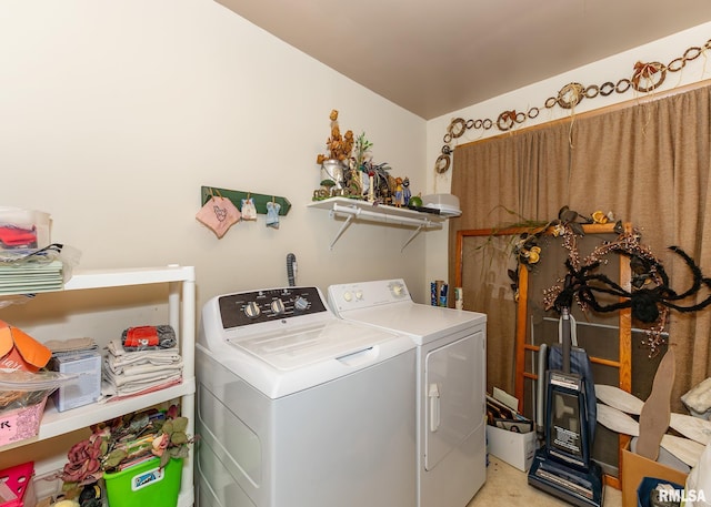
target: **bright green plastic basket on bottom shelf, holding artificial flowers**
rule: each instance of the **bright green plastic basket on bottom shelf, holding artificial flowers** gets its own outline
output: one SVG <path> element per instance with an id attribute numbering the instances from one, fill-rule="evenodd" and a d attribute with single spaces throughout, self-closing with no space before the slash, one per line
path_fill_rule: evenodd
<path id="1" fill-rule="evenodd" d="M 116 474 L 104 474 L 109 507 L 176 507 L 181 475 L 182 459 L 171 459 L 161 469 L 159 458 Z"/>

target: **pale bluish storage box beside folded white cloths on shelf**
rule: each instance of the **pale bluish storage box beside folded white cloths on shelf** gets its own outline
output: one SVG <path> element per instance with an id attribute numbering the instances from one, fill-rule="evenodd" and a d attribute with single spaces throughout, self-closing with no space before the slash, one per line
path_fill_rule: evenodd
<path id="1" fill-rule="evenodd" d="M 89 405 L 101 396 L 101 354 L 98 351 L 58 354 L 52 356 L 48 367 L 79 375 L 52 394 L 59 412 Z"/>

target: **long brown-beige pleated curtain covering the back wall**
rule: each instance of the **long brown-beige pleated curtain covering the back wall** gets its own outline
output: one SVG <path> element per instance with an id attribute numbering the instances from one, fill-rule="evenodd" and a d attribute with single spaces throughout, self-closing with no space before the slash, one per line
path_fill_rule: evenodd
<path id="1" fill-rule="evenodd" d="M 631 222 L 641 231 L 642 242 L 663 261 L 678 293 L 690 286 L 691 274 L 669 246 L 680 246 L 711 276 L 710 124 L 711 87 L 704 87 L 458 146 L 452 193 L 459 196 L 463 214 L 450 220 L 450 283 L 458 255 L 457 231 L 501 227 L 521 220 L 550 221 L 563 205 L 585 215 L 612 211 L 617 219 Z M 465 307 L 489 315 L 489 387 L 512 392 L 509 322 L 515 318 L 515 304 L 511 294 L 499 301 L 492 301 L 490 294 L 485 298 L 474 295 L 485 291 L 494 277 L 498 285 L 508 286 L 507 270 L 500 262 L 491 263 L 491 270 L 482 274 L 467 270 L 468 262 L 465 256 L 464 294 L 471 294 Z M 508 266 L 515 266 L 512 258 Z M 672 311 L 670 334 L 677 357 L 673 397 L 678 400 L 711 376 L 711 307 L 694 313 Z"/>

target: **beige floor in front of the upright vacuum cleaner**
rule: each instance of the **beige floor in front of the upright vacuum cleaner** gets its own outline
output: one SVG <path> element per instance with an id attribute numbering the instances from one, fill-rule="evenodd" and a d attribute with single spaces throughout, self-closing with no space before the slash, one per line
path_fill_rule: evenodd
<path id="1" fill-rule="evenodd" d="M 528 476 L 511 465 L 489 455 L 487 481 L 468 507 L 557 507 L 569 504 L 528 485 Z M 604 507 L 621 507 L 622 491 L 605 486 Z"/>

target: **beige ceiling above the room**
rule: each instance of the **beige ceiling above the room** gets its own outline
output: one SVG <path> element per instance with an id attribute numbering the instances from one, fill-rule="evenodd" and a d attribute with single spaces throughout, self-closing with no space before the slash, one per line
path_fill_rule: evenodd
<path id="1" fill-rule="evenodd" d="M 709 0 L 217 1 L 425 120 L 711 20 Z"/>

